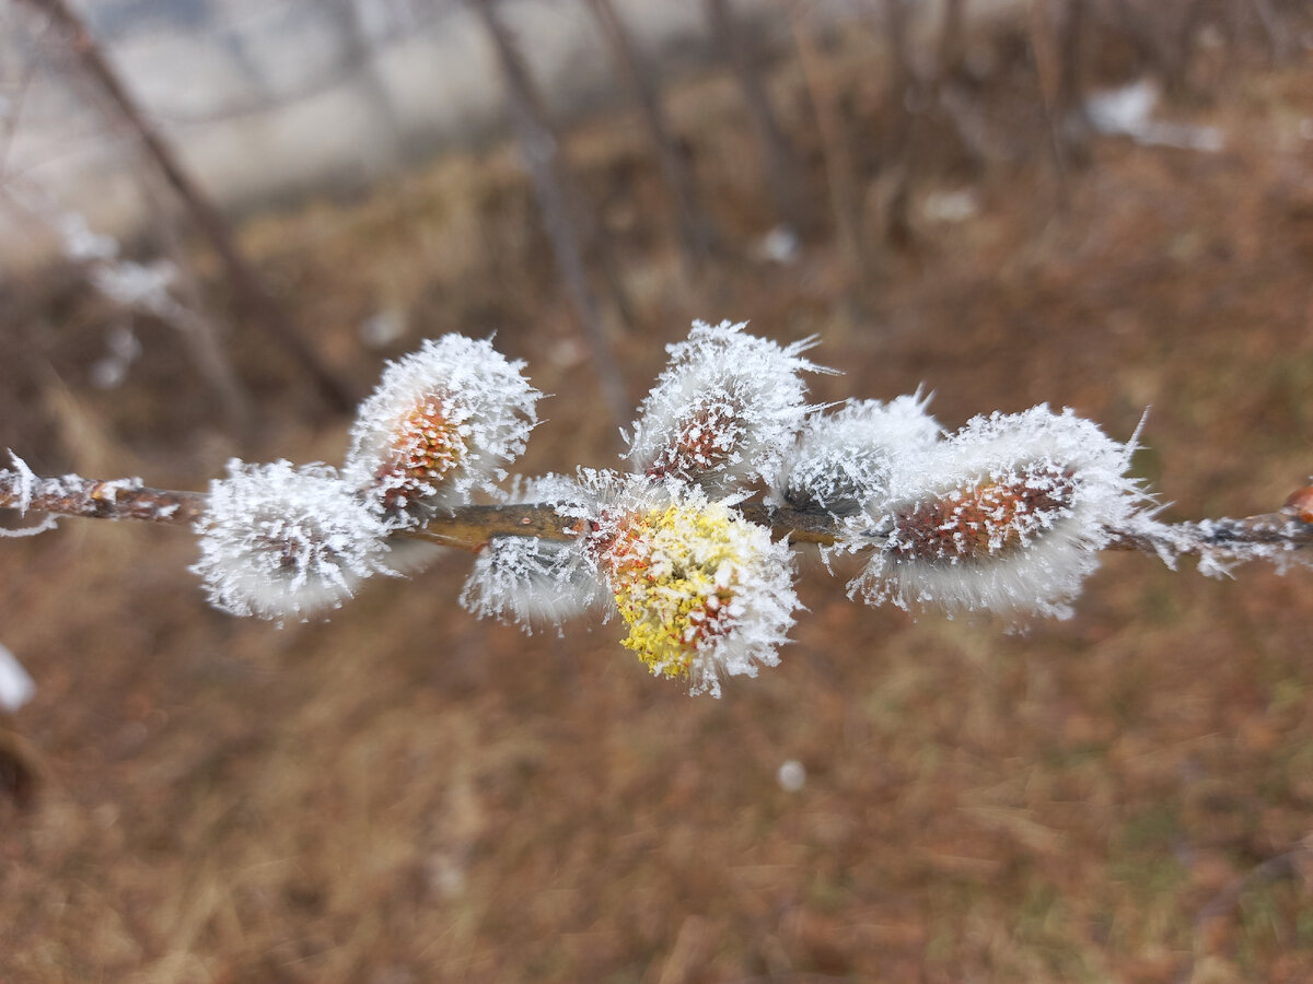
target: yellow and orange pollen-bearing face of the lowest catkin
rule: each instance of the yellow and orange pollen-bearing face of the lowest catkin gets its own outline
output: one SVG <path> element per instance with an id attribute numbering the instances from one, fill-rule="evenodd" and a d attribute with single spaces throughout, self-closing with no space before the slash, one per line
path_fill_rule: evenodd
<path id="1" fill-rule="evenodd" d="M 625 520 L 607 550 L 611 588 L 629 626 L 625 648 L 653 674 L 688 678 L 699 651 L 733 627 L 729 606 L 746 558 L 722 505 L 671 505 Z"/>

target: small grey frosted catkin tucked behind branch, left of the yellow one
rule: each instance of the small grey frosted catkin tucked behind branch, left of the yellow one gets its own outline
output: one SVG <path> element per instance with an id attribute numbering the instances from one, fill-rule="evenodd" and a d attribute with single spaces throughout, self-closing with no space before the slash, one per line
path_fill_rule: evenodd
<path id="1" fill-rule="evenodd" d="M 511 501 L 553 505 L 562 516 L 562 527 L 575 526 L 580 534 L 590 523 L 569 517 L 596 513 L 592 495 L 561 475 L 516 483 Z M 583 535 L 574 541 L 496 537 L 474 559 L 461 592 L 467 611 L 515 622 L 527 632 L 545 625 L 559 628 L 607 598 L 593 551 Z"/>

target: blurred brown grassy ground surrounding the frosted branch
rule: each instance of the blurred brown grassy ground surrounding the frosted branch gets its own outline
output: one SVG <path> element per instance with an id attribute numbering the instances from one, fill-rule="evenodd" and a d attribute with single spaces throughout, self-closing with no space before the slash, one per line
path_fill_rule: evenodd
<path id="1" fill-rule="evenodd" d="M 850 122 L 878 135 L 867 42 L 844 43 Z M 821 336 L 846 371 L 822 398 L 924 383 L 953 426 L 1048 400 L 1125 438 L 1152 404 L 1137 468 L 1170 514 L 1279 505 L 1313 467 L 1313 87 L 1306 52 L 1245 63 L 1205 59 L 1208 98 L 1166 110 L 1222 127 L 1224 152 L 1099 139 L 1057 211 L 1004 56 L 981 98 L 1025 152 L 968 167 L 931 144 L 915 203 L 972 188 L 979 215 L 918 219 L 856 290 L 823 231 L 796 265 L 751 258 L 771 219 L 726 79 L 674 104 L 730 244 L 696 285 L 637 125 L 586 127 L 571 151 L 641 320 L 618 340 L 633 395 L 692 318 L 751 319 Z M 794 67 L 776 81 L 798 110 Z M 362 388 L 381 357 L 356 325 L 381 306 L 411 318 L 387 354 L 495 328 L 558 394 L 525 470 L 605 464 L 534 228 L 495 151 L 246 234 Z M 231 453 L 340 458 L 347 422 L 240 333 L 244 447 L 164 327 L 140 327 L 123 388 L 93 390 L 112 312 L 54 279 L 4 297 L 0 447 L 186 487 Z M 1074 619 L 1007 635 L 851 604 L 809 562 L 784 665 L 712 701 L 650 678 L 614 625 L 475 622 L 461 556 L 280 630 L 205 607 L 193 552 L 76 521 L 0 544 L 0 642 L 39 685 L 0 720 L 4 981 L 1313 979 L 1308 572 L 1109 556 Z"/>

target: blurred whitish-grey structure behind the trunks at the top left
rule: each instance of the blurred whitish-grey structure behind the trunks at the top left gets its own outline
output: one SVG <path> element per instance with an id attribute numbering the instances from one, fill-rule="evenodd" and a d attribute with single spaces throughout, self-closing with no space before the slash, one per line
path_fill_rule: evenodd
<path id="1" fill-rule="evenodd" d="M 139 105 L 226 207 L 360 188 L 440 147 L 504 127 L 496 59 L 465 0 L 72 0 Z M 718 55 L 704 0 L 613 0 L 671 76 Z M 941 0 L 916 0 L 931 28 Z M 1019 0 L 972 0 L 974 20 Z M 582 0 L 502 0 L 554 115 L 614 100 L 611 59 Z M 739 13 L 789 43 L 784 8 Z M 857 0 L 818 0 L 848 20 Z M 39 184 L 122 239 L 152 207 L 133 142 L 95 109 L 56 38 L 25 4 L 0 5 L 0 181 Z M 158 206 L 156 206 L 158 207 Z M 0 207 L 0 260 L 53 255 Z M 41 258 L 41 256 L 34 257 Z"/>

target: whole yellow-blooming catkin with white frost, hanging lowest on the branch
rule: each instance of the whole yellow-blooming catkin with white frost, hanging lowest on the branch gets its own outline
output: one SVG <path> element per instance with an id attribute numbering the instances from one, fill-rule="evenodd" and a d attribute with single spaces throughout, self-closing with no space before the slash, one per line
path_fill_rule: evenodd
<path id="1" fill-rule="evenodd" d="M 608 510 L 591 542 L 624 646 L 654 674 L 720 697 L 722 676 L 775 666 L 798 606 L 793 555 L 771 533 L 696 488 L 666 483 Z"/>

